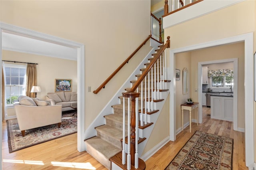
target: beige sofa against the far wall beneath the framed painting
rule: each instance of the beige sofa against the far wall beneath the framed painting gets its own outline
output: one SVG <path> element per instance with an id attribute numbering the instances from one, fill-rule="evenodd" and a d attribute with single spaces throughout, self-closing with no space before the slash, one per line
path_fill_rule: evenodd
<path id="1" fill-rule="evenodd" d="M 45 99 L 49 100 L 51 102 L 51 105 L 62 105 L 62 111 L 74 110 L 71 107 L 77 107 L 76 91 L 61 91 L 55 93 L 47 93 Z"/>

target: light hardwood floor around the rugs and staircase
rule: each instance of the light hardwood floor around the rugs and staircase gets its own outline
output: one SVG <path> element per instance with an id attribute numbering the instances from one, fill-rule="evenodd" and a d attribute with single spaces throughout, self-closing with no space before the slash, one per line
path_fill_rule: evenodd
<path id="1" fill-rule="evenodd" d="M 168 142 L 146 161 L 146 170 L 163 170 L 196 130 L 234 138 L 233 169 L 248 170 L 244 162 L 244 133 L 232 130 L 232 122 L 210 119 L 209 108 L 203 108 L 203 113 L 204 123 L 192 123 L 191 133 L 186 127 L 175 142 Z M 3 170 L 106 170 L 90 154 L 76 150 L 77 134 L 9 153 L 6 122 L 2 124 Z"/>

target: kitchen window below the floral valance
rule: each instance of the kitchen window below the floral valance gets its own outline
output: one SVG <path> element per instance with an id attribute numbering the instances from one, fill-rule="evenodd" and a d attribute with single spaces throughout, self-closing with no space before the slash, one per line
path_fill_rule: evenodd
<path id="1" fill-rule="evenodd" d="M 234 79 L 233 76 L 217 76 L 217 77 L 210 77 L 210 84 L 212 87 L 233 87 Z"/>

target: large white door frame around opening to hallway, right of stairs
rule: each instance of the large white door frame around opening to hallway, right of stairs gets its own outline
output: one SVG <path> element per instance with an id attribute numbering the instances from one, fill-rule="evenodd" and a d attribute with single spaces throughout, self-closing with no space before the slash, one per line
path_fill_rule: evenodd
<path id="1" fill-rule="evenodd" d="M 253 32 L 215 40 L 211 42 L 170 49 L 170 140 L 176 140 L 176 108 L 175 108 L 175 53 L 191 51 L 216 45 L 224 45 L 228 43 L 244 42 L 244 93 L 245 93 L 245 162 L 246 166 L 254 164 L 254 91 L 253 88 Z"/>

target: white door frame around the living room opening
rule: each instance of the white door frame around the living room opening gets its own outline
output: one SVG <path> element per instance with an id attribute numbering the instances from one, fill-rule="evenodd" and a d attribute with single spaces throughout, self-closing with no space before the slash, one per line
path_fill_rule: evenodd
<path id="1" fill-rule="evenodd" d="M 26 28 L 21 28 L 18 26 L 13 26 L 10 24 L 5 24 L 0 22 L 0 60 L 2 61 L 2 32 L 7 31 L 14 34 L 22 34 L 29 38 L 34 38 L 37 40 L 42 40 L 50 43 L 56 43 L 59 45 L 64 45 L 67 47 L 72 47 L 77 49 L 77 95 L 78 95 L 78 112 L 77 112 L 77 150 L 82 152 L 85 150 L 85 143 L 84 143 L 84 120 L 85 120 L 85 47 L 84 44 L 73 42 L 70 40 L 65 40 L 62 38 L 58 38 L 55 36 L 51 36 L 48 34 L 43 34 L 40 32 L 35 32 L 32 30 L 28 30 Z M 2 67 L 2 62 L 0 62 L 0 67 Z M 2 69 L 0 69 L 0 76 L 2 77 Z M 2 88 L 0 89 L 0 95 L 2 96 Z M 0 98 L 0 102 L 2 103 L 2 97 Z M 2 115 L 2 109 L 0 111 L 0 115 Z M 1 120 L 1 127 L 2 127 L 2 116 Z M 2 131 L 0 132 L 0 147 L 2 147 Z M 2 160 L 2 152 L 0 154 L 0 158 Z M 2 164 L 0 169 L 2 168 Z"/>

